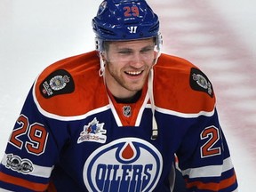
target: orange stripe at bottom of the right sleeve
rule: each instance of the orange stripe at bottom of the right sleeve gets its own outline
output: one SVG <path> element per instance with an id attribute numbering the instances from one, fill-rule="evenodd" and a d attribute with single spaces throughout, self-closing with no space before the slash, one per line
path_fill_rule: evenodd
<path id="1" fill-rule="evenodd" d="M 203 183 L 201 181 L 195 181 L 187 183 L 187 188 L 196 188 L 201 190 L 211 190 L 211 191 L 219 191 L 220 189 L 228 188 L 232 185 L 236 184 L 236 174 L 233 174 L 232 177 L 227 180 L 221 180 L 220 183 Z"/>

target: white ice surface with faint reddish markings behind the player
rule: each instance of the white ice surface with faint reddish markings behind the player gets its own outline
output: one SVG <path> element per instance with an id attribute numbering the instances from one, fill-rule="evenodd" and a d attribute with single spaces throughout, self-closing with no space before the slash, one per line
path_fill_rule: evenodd
<path id="1" fill-rule="evenodd" d="M 94 49 L 91 20 L 100 0 L 1 0 L 0 156 L 36 76 L 54 61 Z M 190 60 L 217 95 L 239 191 L 256 172 L 256 2 L 148 0 L 158 14 L 163 52 Z"/>

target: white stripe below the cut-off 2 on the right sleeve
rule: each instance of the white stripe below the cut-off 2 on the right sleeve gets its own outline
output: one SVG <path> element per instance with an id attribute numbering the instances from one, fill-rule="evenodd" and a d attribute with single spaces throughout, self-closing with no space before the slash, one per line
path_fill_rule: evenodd
<path id="1" fill-rule="evenodd" d="M 199 168 L 191 168 L 182 171 L 182 175 L 188 175 L 190 179 L 199 177 L 220 177 L 222 172 L 233 169 L 231 158 L 228 157 L 220 165 L 209 165 Z"/>

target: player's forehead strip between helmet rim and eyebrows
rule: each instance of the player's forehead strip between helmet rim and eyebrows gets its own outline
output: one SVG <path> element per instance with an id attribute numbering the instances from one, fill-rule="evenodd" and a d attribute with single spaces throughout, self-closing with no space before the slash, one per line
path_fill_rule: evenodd
<path id="1" fill-rule="evenodd" d="M 154 38 L 132 40 L 132 41 L 113 41 L 109 42 L 109 46 L 115 48 L 138 48 L 152 45 L 154 43 Z"/>

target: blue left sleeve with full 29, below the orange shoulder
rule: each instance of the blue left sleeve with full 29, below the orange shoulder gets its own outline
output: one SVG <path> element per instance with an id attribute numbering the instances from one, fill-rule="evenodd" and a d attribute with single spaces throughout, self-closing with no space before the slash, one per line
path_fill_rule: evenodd
<path id="1" fill-rule="evenodd" d="M 61 124 L 42 116 L 31 89 L 0 164 L 0 190 L 25 192 L 48 188 L 60 148 L 68 140 L 65 127 L 54 130 L 50 127 L 61 127 Z M 60 137 L 58 141 L 54 138 L 57 136 Z"/>

